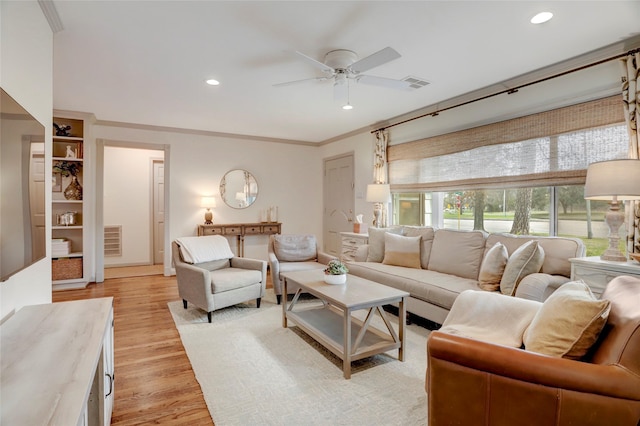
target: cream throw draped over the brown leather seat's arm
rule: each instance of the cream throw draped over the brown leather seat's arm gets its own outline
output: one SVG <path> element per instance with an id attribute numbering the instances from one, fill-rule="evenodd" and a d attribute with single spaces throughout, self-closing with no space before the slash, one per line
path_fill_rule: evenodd
<path id="1" fill-rule="evenodd" d="M 520 348 L 523 335 L 542 303 L 500 293 L 460 293 L 440 331 L 483 342 Z"/>

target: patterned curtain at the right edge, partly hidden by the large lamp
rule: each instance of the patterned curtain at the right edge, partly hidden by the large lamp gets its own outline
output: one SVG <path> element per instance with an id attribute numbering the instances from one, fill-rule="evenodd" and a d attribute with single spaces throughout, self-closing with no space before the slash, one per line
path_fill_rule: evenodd
<path id="1" fill-rule="evenodd" d="M 640 52 L 621 60 L 622 65 L 622 100 L 624 116 L 629 130 L 629 158 L 640 159 L 638 139 L 638 123 L 640 122 Z M 629 201 L 627 205 L 627 251 L 640 252 L 640 202 Z"/>

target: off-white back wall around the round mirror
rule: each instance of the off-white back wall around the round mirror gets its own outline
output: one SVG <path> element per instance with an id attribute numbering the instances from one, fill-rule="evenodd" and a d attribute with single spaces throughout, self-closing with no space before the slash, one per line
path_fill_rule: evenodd
<path id="1" fill-rule="evenodd" d="M 100 117 L 97 117 L 100 120 Z M 214 223 L 259 222 L 260 210 L 278 206 L 283 233 L 313 233 L 322 238 L 322 157 L 315 146 L 276 143 L 194 132 L 139 129 L 101 125 L 96 139 L 131 144 L 169 145 L 168 221 L 171 240 L 196 235 L 204 223 L 200 198 L 214 195 Z M 228 207 L 220 199 L 220 179 L 232 169 L 251 172 L 258 197 L 246 209 Z M 122 168 L 120 168 L 122 173 Z M 107 172 L 105 171 L 105 174 Z M 107 221 L 105 220 L 105 224 Z M 245 239 L 245 256 L 267 259 L 267 237 Z M 235 249 L 235 240 L 231 240 Z"/>

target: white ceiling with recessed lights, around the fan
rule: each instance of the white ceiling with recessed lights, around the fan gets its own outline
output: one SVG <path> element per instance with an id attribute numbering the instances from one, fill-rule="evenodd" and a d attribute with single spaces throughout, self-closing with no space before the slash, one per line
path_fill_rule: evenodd
<path id="1" fill-rule="evenodd" d="M 319 143 L 637 36 L 634 1 L 63 1 L 54 108 L 135 123 Z M 529 19 L 540 11 L 554 18 Z M 322 62 L 387 46 L 365 74 L 426 87 L 351 84 L 354 109 L 295 51 Z M 215 78 L 219 86 L 205 80 Z"/>

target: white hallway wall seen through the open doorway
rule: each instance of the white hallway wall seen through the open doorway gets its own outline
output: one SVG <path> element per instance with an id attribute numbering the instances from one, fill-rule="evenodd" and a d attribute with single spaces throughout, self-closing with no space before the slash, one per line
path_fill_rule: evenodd
<path id="1" fill-rule="evenodd" d="M 152 159 L 162 151 L 106 146 L 104 225 L 122 226 L 122 255 L 106 265 L 148 265 L 151 257 Z"/>

